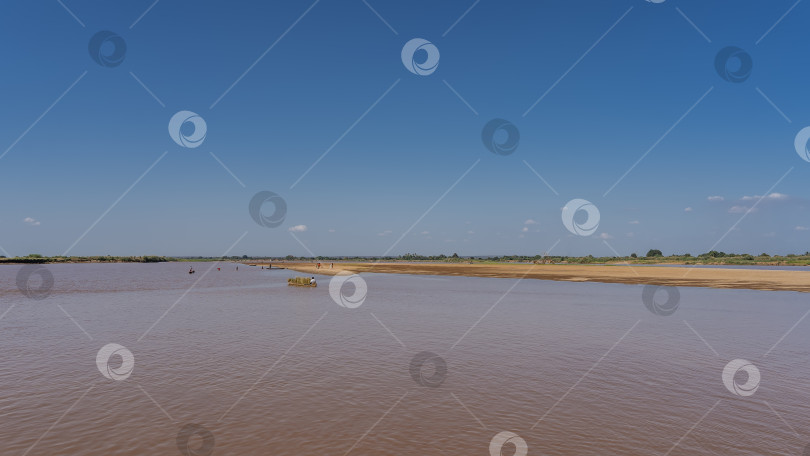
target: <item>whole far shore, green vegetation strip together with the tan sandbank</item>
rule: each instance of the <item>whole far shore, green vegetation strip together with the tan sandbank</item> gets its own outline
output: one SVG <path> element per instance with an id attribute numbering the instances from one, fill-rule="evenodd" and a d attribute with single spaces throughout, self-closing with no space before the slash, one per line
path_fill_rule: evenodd
<path id="1" fill-rule="evenodd" d="M 650 259 L 648 259 L 649 261 Z M 541 262 L 494 262 L 471 259 L 447 261 L 290 261 L 244 258 L 171 258 L 145 257 L 23 257 L 0 258 L 0 264 L 104 264 L 104 263 L 189 263 L 221 261 L 250 266 L 269 266 L 290 269 L 306 275 L 335 275 L 339 273 L 386 273 L 416 275 L 446 275 L 464 277 L 495 277 L 512 279 L 539 279 L 567 282 L 602 282 L 623 284 L 652 284 L 677 287 L 706 287 L 765 291 L 796 291 L 810 293 L 810 267 L 806 271 L 767 269 L 769 266 L 797 266 L 802 264 L 774 264 L 749 262 L 722 264 L 715 262 L 678 264 L 673 261 L 652 263 L 607 262 L 605 264 L 571 264 Z M 334 265 L 334 268 L 330 268 Z M 717 266 L 706 268 L 700 266 Z M 727 267 L 724 267 L 727 266 Z M 741 269 L 735 266 L 761 266 Z"/>

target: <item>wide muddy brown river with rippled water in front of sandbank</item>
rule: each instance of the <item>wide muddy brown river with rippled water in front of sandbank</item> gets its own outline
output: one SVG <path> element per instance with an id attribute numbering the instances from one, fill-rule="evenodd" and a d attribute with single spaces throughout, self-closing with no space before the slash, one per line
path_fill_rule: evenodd
<path id="1" fill-rule="evenodd" d="M 638 285 L 364 274 L 333 299 L 330 277 L 232 263 L 40 268 L 0 266 L 3 455 L 810 443 L 808 294 L 680 288 L 648 308 Z"/>

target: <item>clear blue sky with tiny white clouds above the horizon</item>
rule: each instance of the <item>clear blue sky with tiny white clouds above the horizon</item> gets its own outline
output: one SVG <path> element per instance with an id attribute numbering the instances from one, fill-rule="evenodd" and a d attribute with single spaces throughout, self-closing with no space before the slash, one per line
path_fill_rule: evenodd
<path id="1" fill-rule="evenodd" d="M 810 250 L 793 145 L 810 125 L 810 5 L 795 0 L 0 10 L 11 255 Z M 91 58 L 99 31 L 126 43 L 120 65 Z M 413 38 L 439 50 L 433 73 L 403 65 Z M 727 46 L 751 56 L 744 82 L 715 69 Z M 169 135 L 183 110 L 205 120 L 199 147 Z M 520 132 L 514 153 L 484 146 L 495 118 Z M 286 201 L 280 226 L 251 218 L 260 191 Z M 573 199 L 599 209 L 590 236 L 561 220 Z"/>

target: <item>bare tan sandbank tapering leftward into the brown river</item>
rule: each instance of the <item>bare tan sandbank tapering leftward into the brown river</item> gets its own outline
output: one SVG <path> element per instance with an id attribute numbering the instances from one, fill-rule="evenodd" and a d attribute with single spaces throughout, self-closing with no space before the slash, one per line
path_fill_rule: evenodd
<path id="1" fill-rule="evenodd" d="M 267 262 L 248 262 L 266 266 Z M 633 265 L 544 265 L 544 264 L 460 264 L 460 263 L 315 263 L 281 262 L 275 267 L 309 275 L 338 273 L 386 273 L 447 275 L 464 277 L 499 277 L 557 280 L 567 282 L 603 282 L 651 284 L 675 287 L 706 287 L 810 293 L 810 269 L 785 271 L 766 269 L 691 268 L 688 266 Z"/>

